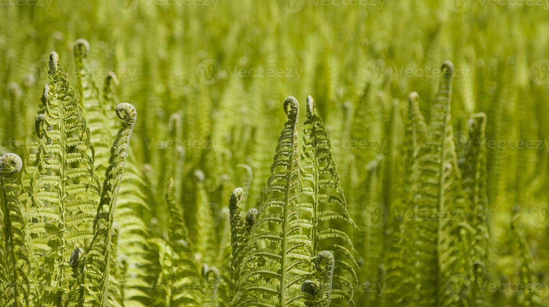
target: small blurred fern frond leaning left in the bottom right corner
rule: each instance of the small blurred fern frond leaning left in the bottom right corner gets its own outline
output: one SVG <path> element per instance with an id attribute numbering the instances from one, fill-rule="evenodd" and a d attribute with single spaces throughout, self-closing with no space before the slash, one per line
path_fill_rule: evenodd
<path id="1" fill-rule="evenodd" d="M 519 278 L 520 284 L 525 285 L 524 291 L 517 291 L 516 304 L 518 307 L 541 307 L 546 306 L 542 297 L 547 297 L 546 287 L 539 287 L 538 270 L 534 262 L 530 246 L 522 227 L 519 225 L 519 216 L 514 216 L 511 221 L 513 231 L 513 243 L 516 247 L 516 254 L 520 260 Z"/>

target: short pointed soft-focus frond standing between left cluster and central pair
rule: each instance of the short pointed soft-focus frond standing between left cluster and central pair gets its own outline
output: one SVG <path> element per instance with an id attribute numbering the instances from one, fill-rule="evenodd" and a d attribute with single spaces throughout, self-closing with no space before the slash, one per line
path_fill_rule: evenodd
<path id="1" fill-rule="evenodd" d="M 201 299 L 201 275 L 194 261 L 187 227 L 183 222 L 179 206 L 173 202 L 173 181 L 166 191 L 169 209 L 168 237 L 163 260 L 163 284 L 165 284 L 166 306 L 197 306 Z"/>

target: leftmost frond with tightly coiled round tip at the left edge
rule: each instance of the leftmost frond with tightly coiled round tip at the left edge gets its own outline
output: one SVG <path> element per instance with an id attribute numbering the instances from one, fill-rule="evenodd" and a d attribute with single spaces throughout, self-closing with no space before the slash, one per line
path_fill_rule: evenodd
<path id="1" fill-rule="evenodd" d="M 33 306 L 36 298 L 36 282 L 33 277 L 30 218 L 23 203 L 19 201 L 21 187 L 15 173 L 21 170 L 23 161 L 18 155 L 7 153 L 0 158 L 0 205 L 3 214 L 2 231 L 5 235 L 5 250 L 9 259 L 9 292 L 13 291 L 12 304 L 5 306 Z M 4 243 L 3 242 L 3 243 Z M 7 275 L 8 276 L 8 275 Z M 0 294 L 2 295 L 2 294 Z M 3 295 L 2 295 L 3 296 Z"/>

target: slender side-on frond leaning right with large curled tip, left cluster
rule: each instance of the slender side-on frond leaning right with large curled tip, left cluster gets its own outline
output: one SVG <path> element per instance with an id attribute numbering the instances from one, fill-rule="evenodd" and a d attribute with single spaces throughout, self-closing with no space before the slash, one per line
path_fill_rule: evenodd
<path id="1" fill-rule="evenodd" d="M 112 236 L 116 198 L 124 174 L 128 146 L 137 119 L 137 111 L 131 104 L 121 103 L 116 107 L 116 115 L 122 120 L 122 127 L 110 149 L 109 166 L 105 172 L 101 199 L 93 223 L 93 239 L 89 247 L 86 248 L 85 253 L 85 281 L 90 292 L 86 293 L 86 296 L 93 295 L 96 304 L 102 307 L 110 306 L 111 301 L 115 300 L 110 270 L 115 263 L 111 259 L 114 252 Z"/>

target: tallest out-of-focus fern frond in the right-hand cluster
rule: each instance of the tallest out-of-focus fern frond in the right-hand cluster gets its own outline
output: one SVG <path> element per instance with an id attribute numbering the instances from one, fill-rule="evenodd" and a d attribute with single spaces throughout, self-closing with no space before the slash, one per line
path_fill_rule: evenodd
<path id="1" fill-rule="evenodd" d="M 409 237 L 403 244 L 411 249 L 406 257 L 410 258 L 407 277 L 411 277 L 412 284 L 407 289 L 416 289 L 410 295 L 418 306 L 434 303 L 451 306 L 467 302 L 446 292 L 452 277 L 469 274 L 470 267 L 462 233 L 468 199 L 461 189 L 450 122 L 452 75 L 453 64 L 445 62 L 431 123 L 417 158 L 412 208 L 414 214 L 425 215 L 414 216 L 405 226 Z M 427 219 L 433 214 L 439 218 Z"/>

